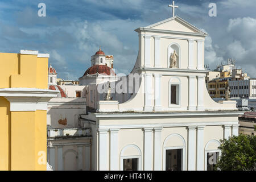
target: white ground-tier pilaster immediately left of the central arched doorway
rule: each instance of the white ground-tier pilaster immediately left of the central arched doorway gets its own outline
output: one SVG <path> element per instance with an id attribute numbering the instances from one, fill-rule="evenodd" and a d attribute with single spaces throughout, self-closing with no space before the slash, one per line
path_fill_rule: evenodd
<path id="1" fill-rule="evenodd" d="M 154 171 L 160 171 L 162 167 L 162 133 L 163 127 L 154 128 Z"/>

